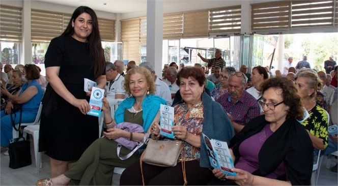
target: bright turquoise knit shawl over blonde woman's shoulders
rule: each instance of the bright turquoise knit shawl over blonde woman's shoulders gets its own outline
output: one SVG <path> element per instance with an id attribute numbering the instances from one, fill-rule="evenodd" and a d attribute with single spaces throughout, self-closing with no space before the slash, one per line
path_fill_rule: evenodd
<path id="1" fill-rule="evenodd" d="M 115 121 L 117 124 L 124 122 L 124 111 L 126 109 L 130 109 L 132 105 L 135 103 L 134 97 L 128 97 L 121 102 L 118 109 L 115 111 Z M 142 110 L 143 110 L 143 128 L 145 132 L 148 131 L 148 128 L 152 124 L 156 114 L 160 110 L 160 104 L 166 105 L 166 101 L 156 95 L 147 95 L 142 102 Z"/>

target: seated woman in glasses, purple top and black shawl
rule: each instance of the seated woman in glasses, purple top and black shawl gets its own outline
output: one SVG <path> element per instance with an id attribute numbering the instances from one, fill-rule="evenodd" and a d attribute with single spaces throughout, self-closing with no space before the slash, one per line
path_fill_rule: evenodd
<path id="1" fill-rule="evenodd" d="M 214 169 L 215 185 L 309 185 L 313 145 L 297 120 L 303 118 L 301 97 L 286 77 L 268 79 L 258 100 L 264 115 L 249 121 L 230 141 L 237 176 Z"/>

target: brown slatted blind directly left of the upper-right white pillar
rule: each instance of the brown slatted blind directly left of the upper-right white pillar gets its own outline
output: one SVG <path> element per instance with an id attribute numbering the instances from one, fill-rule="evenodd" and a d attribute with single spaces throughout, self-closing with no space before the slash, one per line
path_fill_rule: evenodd
<path id="1" fill-rule="evenodd" d="M 241 32 L 241 6 L 209 10 L 209 34 Z"/>

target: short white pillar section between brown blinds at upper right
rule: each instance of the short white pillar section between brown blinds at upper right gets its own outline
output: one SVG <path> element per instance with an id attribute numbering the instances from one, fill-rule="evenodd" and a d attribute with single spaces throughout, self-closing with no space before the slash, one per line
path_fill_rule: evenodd
<path id="1" fill-rule="evenodd" d="M 251 33 L 250 1 L 241 1 L 241 34 Z"/>

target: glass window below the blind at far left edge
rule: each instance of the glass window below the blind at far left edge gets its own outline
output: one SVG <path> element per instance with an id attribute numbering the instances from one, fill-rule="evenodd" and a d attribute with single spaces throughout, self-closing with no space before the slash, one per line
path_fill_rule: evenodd
<path id="1" fill-rule="evenodd" d="M 0 42 L 1 62 L 3 64 L 20 64 L 20 43 Z"/>

